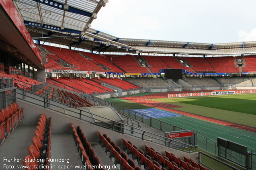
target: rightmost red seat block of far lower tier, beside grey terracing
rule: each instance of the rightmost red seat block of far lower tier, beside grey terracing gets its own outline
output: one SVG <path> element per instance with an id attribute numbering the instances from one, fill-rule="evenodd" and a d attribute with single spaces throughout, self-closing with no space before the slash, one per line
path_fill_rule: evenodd
<path id="1" fill-rule="evenodd" d="M 112 86 L 121 88 L 122 90 L 129 90 L 129 89 L 137 89 L 139 88 L 138 86 L 135 86 L 129 82 L 126 82 L 124 80 L 121 80 L 119 78 L 94 78 L 93 80 L 97 81 L 97 82 L 105 82 L 106 84 L 110 84 Z"/>

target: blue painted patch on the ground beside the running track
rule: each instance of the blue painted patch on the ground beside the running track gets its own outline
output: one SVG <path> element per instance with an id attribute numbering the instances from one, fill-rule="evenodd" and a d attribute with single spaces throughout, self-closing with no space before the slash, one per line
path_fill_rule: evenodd
<path id="1" fill-rule="evenodd" d="M 133 109 L 135 112 L 139 112 L 141 114 L 145 114 L 147 116 L 150 116 L 152 118 L 169 118 L 169 117 L 178 117 L 181 116 L 179 114 L 175 114 L 172 112 L 167 112 L 164 110 L 156 109 L 156 108 L 147 108 L 147 109 Z M 134 114 L 134 113 L 132 113 Z M 139 114 L 137 114 L 139 116 Z M 146 118 L 146 117 L 144 117 Z"/>

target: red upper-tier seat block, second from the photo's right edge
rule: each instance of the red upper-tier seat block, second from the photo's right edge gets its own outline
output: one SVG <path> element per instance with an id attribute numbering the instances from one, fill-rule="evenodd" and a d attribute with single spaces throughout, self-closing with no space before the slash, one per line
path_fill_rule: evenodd
<path id="1" fill-rule="evenodd" d="M 206 60 L 211 64 L 217 73 L 239 72 L 239 67 L 234 67 L 234 58 L 227 57 L 207 57 Z"/>

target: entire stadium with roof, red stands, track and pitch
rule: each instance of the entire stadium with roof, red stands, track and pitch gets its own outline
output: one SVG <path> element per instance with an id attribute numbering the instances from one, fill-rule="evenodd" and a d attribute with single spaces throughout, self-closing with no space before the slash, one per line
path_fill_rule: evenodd
<path id="1" fill-rule="evenodd" d="M 0 4 L 1 169 L 256 170 L 256 41 L 120 38 L 91 28 L 108 0 Z"/>

